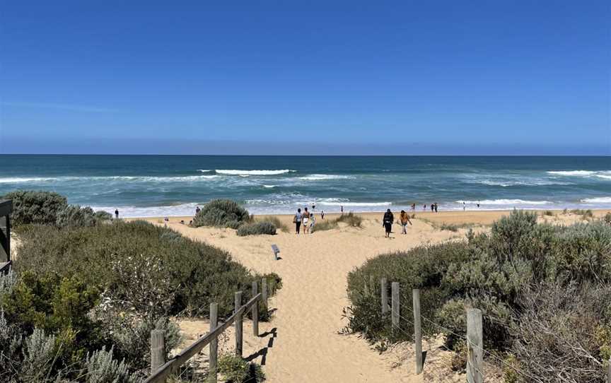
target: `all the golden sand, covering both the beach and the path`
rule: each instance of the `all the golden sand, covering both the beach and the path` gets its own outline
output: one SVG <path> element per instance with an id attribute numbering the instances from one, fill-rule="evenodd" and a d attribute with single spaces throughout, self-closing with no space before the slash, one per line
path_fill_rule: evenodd
<path id="1" fill-rule="evenodd" d="M 411 213 L 411 212 L 410 212 Z M 416 247 L 419 244 L 461 240 L 467 230 L 489 230 L 494 220 L 509 211 L 415 212 L 407 235 L 400 235 L 400 226 L 393 226 L 391 239 L 384 237 L 382 213 L 363 213 L 362 228 L 340 224 L 334 230 L 312 235 L 281 232 L 277 235 L 238 237 L 235 230 L 190 228 L 190 218 L 169 218 L 168 226 L 194 240 L 226 249 L 235 261 L 261 273 L 275 272 L 283 287 L 271 300 L 274 318 L 262 324 L 266 335 L 254 338 L 245 330 L 245 356 L 264 365 L 269 382 L 462 382 L 464 376 L 451 372 L 448 353 L 438 344 L 429 348 L 424 375 L 414 374 L 413 353 L 409 345 L 378 353 L 366 341 L 354 335 L 340 334 L 346 325 L 342 310 L 347 300 L 347 273 L 378 254 Z M 607 211 L 595 211 L 596 217 Z M 540 220 L 570 224 L 583 220 L 576 214 L 554 211 L 555 216 Z M 337 214 L 325 214 L 325 220 Z M 257 217 L 261 218 L 261 217 Z M 293 230 L 292 216 L 278 216 Z M 320 222 L 320 217 L 317 215 Z M 163 225 L 163 218 L 146 218 Z M 461 225 L 458 231 L 439 230 L 441 223 Z M 280 248 L 274 260 L 271 245 Z M 202 321 L 181 324 L 187 342 L 204 334 L 208 326 Z M 248 325 L 247 325 L 248 326 Z M 231 337 L 231 332 L 228 334 Z M 228 341 L 231 346 L 231 341 Z M 205 355 L 202 355 L 205 360 Z M 424 379 L 424 380 L 423 380 Z"/>

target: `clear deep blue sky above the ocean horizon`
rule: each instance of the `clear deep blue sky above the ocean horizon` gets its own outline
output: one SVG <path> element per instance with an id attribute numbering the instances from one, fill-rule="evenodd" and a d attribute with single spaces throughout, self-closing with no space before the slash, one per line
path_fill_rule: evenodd
<path id="1" fill-rule="evenodd" d="M 611 154 L 611 1 L 216 4 L 0 0 L 0 153 Z"/>

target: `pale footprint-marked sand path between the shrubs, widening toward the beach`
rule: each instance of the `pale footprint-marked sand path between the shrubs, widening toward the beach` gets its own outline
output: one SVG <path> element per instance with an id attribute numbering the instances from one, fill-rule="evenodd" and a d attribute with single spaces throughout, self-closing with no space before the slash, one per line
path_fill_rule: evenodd
<path id="1" fill-rule="evenodd" d="M 233 230 L 193 229 L 173 222 L 170 226 L 228 250 L 250 269 L 281 276 L 283 287 L 271 302 L 277 312 L 271 326 L 262 326 L 262 331 L 275 328 L 277 333 L 265 360 L 269 382 L 421 382 L 414 377 L 413 363 L 392 368 L 389 355 L 379 355 L 356 336 L 338 334 L 346 325 L 342 310 L 348 305 L 347 273 L 376 254 L 446 240 L 456 233 L 434 232 L 427 223 L 415 221 L 411 235 L 387 240 L 373 219 L 363 229 L 308 236 L 281 232 L 237 237 Z M 272 256 L 272 243 L 281 249 L 279 261 Z"/>

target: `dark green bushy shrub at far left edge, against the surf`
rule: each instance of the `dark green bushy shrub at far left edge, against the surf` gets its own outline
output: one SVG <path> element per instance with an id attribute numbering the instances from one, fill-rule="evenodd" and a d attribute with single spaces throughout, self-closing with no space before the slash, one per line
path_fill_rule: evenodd
<path id="1" fill-rule="evenodd" d="M 11 220 L 16 227 L 28 223 L 54 225 L 59 211 L 68 206 L 66 197 L 54 192 L 16 190 L 0 198 L 13 200 Z"/>

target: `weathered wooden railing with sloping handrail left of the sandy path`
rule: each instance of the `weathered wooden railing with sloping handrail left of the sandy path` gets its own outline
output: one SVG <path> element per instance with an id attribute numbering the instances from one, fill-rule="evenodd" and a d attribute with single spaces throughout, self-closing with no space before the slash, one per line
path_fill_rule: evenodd
<path id="1" fill-rule="evenodd" d="M 180 366 L 187 363 L 190 358 L 197 355 L 205 346 L 210 346 L 210 366 L 208 382 L 216 382 L 216 363 L 219 347 L 219 335 L 223 334 L 229 326 L 235 325 L 235 353 L 242 356 L 243 349 L 243 317 L 249 309 L 252 310 L 252 332 L 259 336 L 259 302 L 261 301 L 267 310 L 267 279 L 262 279 L 262 291 L 257 293 L 257 282 L 252 282 L 253 297 L 242 305 L 242 292 L 235 293 L 235 305 L 233 315 L 228 317 L 225 322 L 217 324 L 219 306 L 216 303 L 210 304 L 210 331 L 197 339 L 190 346 L 180 351 L 178 355 L 165 362 L 165 345 L 163 344 L 163 330 L 151 331 L 151 376 L 146 378 L 144 383 L 165 382 L 170 375 L 178 371 Z"/>

